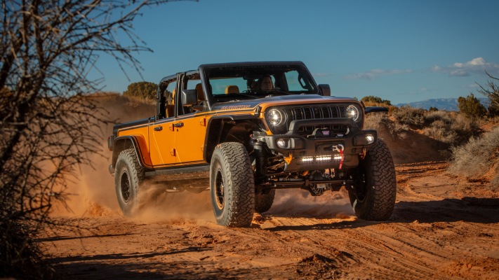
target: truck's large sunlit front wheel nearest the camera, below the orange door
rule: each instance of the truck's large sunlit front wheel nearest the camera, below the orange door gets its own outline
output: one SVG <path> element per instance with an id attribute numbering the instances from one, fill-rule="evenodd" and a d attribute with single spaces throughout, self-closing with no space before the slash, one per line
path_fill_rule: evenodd
<path id="1" fill-rule="evenodd" d="M 215 147 L 211 157 L 210 193 L 213 213 L 219 225 L 251 225 L 255 211 L 255 183 L 243 144 L 226 142 Z"/>

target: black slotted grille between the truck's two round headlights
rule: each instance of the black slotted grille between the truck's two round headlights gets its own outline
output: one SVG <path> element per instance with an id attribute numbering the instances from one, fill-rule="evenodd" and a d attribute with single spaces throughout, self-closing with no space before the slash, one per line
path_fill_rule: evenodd
<path id="1" fill-rule="evenodd" d="M 286 114 L 286 129 L 288 129 L 293 120 L 346 118 L 346 108 L 347 106 L 345 105 L 317 105 L 285 107 L 282 110 L 284 111 L 284 114 Z M 321 125 L 301 127 L 298 133 L 302 135 L 312 134 L 316 128 L 324 128 L 333 133 L 345 134 L 347 132 L 347 127 L 345 125 Z"/>

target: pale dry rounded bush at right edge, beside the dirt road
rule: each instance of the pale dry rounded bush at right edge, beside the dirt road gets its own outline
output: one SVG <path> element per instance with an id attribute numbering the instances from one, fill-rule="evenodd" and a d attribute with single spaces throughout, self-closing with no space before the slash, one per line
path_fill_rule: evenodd
<path id="1" fill-rule="evenodd" d="M 499 127 L 471 138 L 467 144 L 452 148 L 451 165 L 448 172 L 468 179 L 489 179 L 493 188 L 499 188 Z"/>

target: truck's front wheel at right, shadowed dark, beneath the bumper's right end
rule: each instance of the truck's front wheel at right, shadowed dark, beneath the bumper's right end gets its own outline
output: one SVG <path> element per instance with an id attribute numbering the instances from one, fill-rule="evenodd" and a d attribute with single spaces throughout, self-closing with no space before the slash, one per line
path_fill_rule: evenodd
<path id="1" fill-rule="evenodd" d="M 349 192 L 355 215 L 366 221 L 386 221 L 392 216 L 397 180 L 390 150 L 385 142 L 369 148 L 354 172 L 354 190 Z"/>

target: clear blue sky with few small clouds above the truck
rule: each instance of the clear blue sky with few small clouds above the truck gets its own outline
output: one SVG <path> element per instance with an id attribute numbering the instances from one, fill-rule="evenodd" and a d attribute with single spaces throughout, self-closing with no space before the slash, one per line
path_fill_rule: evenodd
<path id="1" fill-rule="evenodd" d="M 154 83 L 204 63 L 301 60 L 335 96 L 478 96 L 485 70 L 499 77 L 498 11 L 492 0 L 178 1 L 143 10 L 135 33 L 154 52 L 136 57 Z M 109 57 L 98 68 L 105 90 L 142 80 Z"/>

